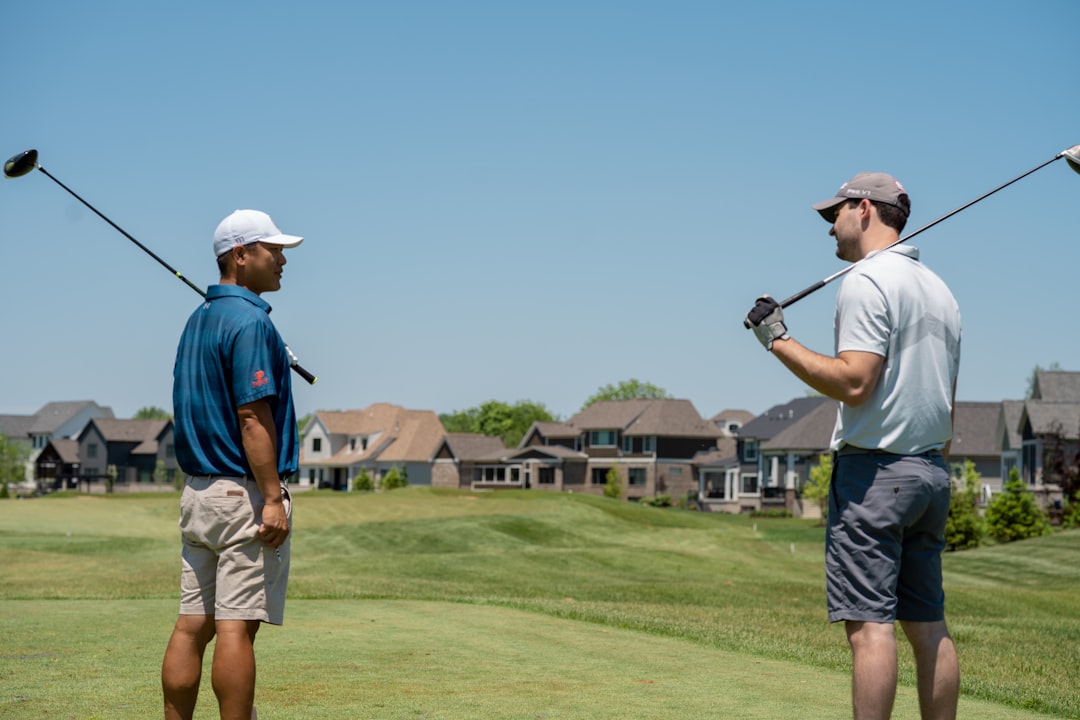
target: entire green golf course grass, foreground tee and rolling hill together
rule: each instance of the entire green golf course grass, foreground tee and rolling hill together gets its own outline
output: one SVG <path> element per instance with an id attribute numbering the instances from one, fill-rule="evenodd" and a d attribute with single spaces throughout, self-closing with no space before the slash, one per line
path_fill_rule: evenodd
<path id="1" fill-rule="evenodd" d="M 176 503 L 0 502 L 0 718 L 159 716 Z M 812 522 L 411 488 L 301 494 L 295 526 L 286 624 L 257 643 L 266 720 L 849 715 Z M 1080 717 L 1078 551 L 946 557 L 961 717 Z M 894 717 L 918 717 L 906 649 L 901 684 Z"/>

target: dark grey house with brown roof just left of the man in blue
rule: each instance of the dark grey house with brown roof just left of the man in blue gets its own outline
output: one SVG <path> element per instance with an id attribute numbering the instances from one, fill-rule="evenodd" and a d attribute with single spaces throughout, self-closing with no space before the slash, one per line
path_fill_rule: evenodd
<path id="1" fill-rule="evenodd" d="M 94 418 L 76 440 L 80 481 L 172 487 L 178 466 L 172 420 Z"/>

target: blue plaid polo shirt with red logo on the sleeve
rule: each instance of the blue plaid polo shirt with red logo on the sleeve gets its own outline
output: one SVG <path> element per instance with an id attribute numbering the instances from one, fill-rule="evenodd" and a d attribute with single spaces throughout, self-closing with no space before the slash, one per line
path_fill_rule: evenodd
<path id="1" fill-rule="evenodd" d="M 211 285 L 188 320 L 173 368 L 176 460 L 189 475 L 251 475 L 237 409 L 269 398 L 278 472 L 296 472 L 300 454 L 288 352 L 270 305 L 238 285 Z"/>

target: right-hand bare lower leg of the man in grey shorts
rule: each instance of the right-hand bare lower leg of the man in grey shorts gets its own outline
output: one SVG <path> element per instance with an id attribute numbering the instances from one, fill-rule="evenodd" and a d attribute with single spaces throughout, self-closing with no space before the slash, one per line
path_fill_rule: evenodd
<path id="1" fill-rule="evenodd" d="M 960 663 L 945 621 L 902 621 L 915 651 L 922 720 L 955 720 L 960 695 Z"/>

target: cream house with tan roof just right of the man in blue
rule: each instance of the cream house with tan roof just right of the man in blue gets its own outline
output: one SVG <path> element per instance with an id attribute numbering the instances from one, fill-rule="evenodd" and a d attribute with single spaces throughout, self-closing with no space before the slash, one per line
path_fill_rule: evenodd
<path id="1" fill-rule="evenodd" d="M 300 438 L 300 488 L 352 490 L 366 472 L 379 481 L 392 468 L 409 485 L 431 485 L 432 458 L 446 435 L 432 410 L 376 403 L 363 410 L 320 410 Z"/>

